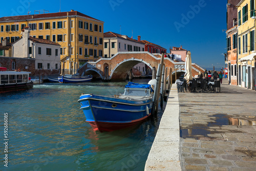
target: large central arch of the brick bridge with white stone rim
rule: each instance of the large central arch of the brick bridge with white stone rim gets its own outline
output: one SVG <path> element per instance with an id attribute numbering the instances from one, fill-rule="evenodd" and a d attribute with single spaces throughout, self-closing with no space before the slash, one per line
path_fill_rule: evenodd
<path id="1" fill-rule="evenodd" d="M 111 78 L 125 78 L 127 73 L 138 63 L 145 63 L 150 69 L 153 69 L 150 63 L 144 61 L 143 59 L 137 59 L 137 58 L 130 58 L 130 59 L 124 59 L 123 61 L 117 63 L 115 68 L 110 73 L 110 79 Z"/>

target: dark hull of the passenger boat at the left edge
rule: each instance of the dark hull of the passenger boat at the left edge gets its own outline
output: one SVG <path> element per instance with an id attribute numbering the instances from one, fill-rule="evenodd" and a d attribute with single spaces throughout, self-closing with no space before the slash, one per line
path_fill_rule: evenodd
<path id="1" fill-rule="evenodd" d="M 23 82 L 23 83 L 13 83 L 13 84 L 1 84 L 0 93 L 18 91 L 18 90 L 28 90 L 33 88 L 33 82 Z"/>

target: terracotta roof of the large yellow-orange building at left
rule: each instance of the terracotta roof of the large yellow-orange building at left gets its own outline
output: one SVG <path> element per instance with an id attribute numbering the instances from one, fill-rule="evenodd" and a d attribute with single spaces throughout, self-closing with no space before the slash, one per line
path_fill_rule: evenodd
<path id="1" fill-rule="evenodd" d="M 82 14 L 78 11 L 68 11 L 69 15 L 79 15 L 91 19 L 98 20 L 96 18 L 90 17 L 86 14 Z M 67 12 L 56 12 L 56 13 L 45 13 L 45 14 L 34 14 L 34 15 L 18 15 L 18 16 L 5 16 L 0 18 L 0 22 L 8 22 L 12 20 L 27 20 L 27 19 L 39 19 L 39 18 L 50 18 L 50 17 L 61 17 L 67 16 Z M 101 20 L 98 20 L 102 22 Z"/>

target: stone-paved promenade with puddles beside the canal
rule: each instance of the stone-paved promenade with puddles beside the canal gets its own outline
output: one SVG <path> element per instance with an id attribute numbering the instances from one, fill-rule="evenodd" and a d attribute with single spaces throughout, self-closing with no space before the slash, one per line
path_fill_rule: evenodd
<path id="1" fill-rule="evenodd" d="M 178 93 L 182 170 L 256 170 L 256 91 Z"/>

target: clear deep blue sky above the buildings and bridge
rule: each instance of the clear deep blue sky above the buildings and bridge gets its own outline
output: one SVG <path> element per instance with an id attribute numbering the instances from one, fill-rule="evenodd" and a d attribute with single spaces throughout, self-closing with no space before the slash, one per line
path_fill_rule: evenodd
<path id="1" fill-rule="evenodd" d="M 30 2 L 30 9 L 28 7 Z M 104 32 L 112 31 L 151 41 L 167 49 L 183 46 L 192 62 L 203 68 L 225 67 L 226 3 L 223 0 L 13 0 L 2 1 L 0 16 L 26 15 L 30 10 L 52 12 L 71 9 L 102 20 Z M 211 69 L 211 70 L 212 70 Z"/>

